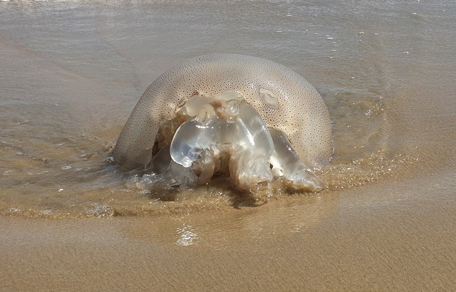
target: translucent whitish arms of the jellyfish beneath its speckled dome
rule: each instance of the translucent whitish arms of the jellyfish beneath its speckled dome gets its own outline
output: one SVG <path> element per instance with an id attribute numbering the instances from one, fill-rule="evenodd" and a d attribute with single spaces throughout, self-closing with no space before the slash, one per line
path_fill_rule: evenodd
<path id="1" fill-rule="evenodd" d="M 268 128 L 234 91 L 190 98 L 161 124 L 157 142 L 161 150 L 141 169 L 147 174 L 130 179 L 133 187 L 185 188 L 207 183 L 215 172 L 229 172 L 232 185 L 247 193 L 270 192 L 273 181 L 291 190 L 322 188 L 286 135 Z"/>

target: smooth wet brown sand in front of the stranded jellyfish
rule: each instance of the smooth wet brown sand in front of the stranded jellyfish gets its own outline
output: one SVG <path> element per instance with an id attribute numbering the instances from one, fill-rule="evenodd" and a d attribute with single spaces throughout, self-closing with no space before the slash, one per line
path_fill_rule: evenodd
<path id="1" fill-rule="evenodd" d="M 0 218 L 0 290 L 455 291 L 443 173 L 217 218 Z"/>

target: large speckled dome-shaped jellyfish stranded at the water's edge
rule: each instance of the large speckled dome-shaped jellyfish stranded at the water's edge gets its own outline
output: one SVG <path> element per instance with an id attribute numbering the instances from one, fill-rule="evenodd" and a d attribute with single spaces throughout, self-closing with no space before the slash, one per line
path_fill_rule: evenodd
<path id="1" fill-rule="evenodd" d="M 203 55 L 163 73 L 112 153 L 137 188 L 181 188 L 226 173 L 236 189 L 316 191 L 333 153 L 323 99 L 302 76 L 258 57 Z"/>

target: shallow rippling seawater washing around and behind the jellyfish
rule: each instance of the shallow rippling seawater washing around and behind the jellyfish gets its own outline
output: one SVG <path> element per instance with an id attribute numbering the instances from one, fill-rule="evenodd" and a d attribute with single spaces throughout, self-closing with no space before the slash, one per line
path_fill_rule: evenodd
<path id="1" fill-rule="evenodd" d="M 284 64 L 330 111 L 335 154 L 317 172 L 326 189 L 278 191 L 268 208 L 300 214 L 324 200 L 330 211 L 327 202 L 347 188 L 434 172 L 451 178 L 455 13 L 452 1 L 2 3 L 0 214 L 217 214 L 251 205 L 223 178 L 196 190 L 130 190 L 109 162 L 149 83 L 207 53 Z"/>

